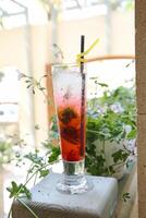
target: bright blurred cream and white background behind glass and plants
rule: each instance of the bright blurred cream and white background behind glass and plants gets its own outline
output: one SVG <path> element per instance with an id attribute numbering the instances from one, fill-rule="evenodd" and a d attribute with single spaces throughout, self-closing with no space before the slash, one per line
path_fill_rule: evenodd
<path id="1" fill-rule="evenodd" d="M 17 140 L 39 147 L 46 140 L 50 114 L 45 97 L 51 86 L 42 78 L 46 94 L 34 95 L 24 74 L 39 81 L 60 49 L 64 62 L 74 62 L 81 35 L 85 49 L 99 38 L 87 56 L 88 98 L 96 95 L 92 77 L 110 88 L 134 85 L 134 0 L 0 0 L 0 158 L 3 142 L 5 147 Z M 2 167 L 0 178 L 1 218 L 8 211 L 4 187 L 11 168 Z"/>

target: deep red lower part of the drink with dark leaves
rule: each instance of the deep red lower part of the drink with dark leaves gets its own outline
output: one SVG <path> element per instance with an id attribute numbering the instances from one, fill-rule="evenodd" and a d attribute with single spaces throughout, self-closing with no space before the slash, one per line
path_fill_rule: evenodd
<path id="1" fill-rule="evenodd" d="M 62 158 L 68 161 L 82 160 L 85 157 L 85 121 L 81 125 L 81 114 L 73 106 L 59 107 L 58 118 Z"/>

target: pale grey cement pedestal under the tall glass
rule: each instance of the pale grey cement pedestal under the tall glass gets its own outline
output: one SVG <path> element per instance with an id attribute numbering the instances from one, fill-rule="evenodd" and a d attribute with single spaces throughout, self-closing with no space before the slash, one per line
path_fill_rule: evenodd
<path id="1" fill-rule="evenodd" d="M 51 173 L 32 189 L 26 204 L 39 218 L 111 218 L 117 204 L 118 184 L 113 178 L 90 177 L 93 190 L 77 195 L 57 191 L 62 174 Z M 19 202 L 13 204 L 13 218 L 34 218 Z"/>

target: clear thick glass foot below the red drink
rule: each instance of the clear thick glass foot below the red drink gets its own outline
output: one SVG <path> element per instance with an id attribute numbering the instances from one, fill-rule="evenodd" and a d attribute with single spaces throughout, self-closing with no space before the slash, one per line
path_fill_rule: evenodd
<path id="1" fill-rule="evenodd" d="M 57 190 L 66 194 L 82 194 L 89 191 L 93 184 L 84 175 L 84 160 L 64 161 L 64 173 L 57 183 Z"/>

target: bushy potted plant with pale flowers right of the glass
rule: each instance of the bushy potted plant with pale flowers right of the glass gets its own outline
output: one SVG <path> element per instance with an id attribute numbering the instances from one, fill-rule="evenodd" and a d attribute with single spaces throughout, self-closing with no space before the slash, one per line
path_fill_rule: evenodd
<path id="1" fill-rule="evenodd" d="M 121 179 L 136 138 L 135 92 L 118 87 L 88 100 L 86 170 Z"/>

